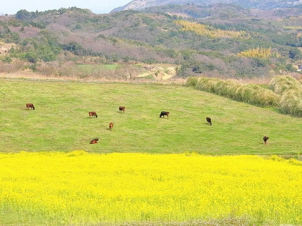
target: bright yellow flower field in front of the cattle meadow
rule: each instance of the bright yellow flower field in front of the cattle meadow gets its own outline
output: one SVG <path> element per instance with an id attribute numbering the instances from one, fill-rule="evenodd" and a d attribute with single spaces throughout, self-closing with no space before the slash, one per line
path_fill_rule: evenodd
<path id="1" fill-rule="evenodd" d="M 258 156 L 0 153 L 0 225 L 247 216 L 302 224 L 302 166 Z"/>

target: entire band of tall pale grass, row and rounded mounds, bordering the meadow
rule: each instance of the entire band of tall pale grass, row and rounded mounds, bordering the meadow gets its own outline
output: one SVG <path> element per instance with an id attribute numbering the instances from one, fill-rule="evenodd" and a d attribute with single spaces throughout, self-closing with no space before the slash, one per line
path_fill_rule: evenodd
<path id="1" fill-rule="evenodd" d="M 249 104 L 275 106 L 284 114 L 302 117 L 302 84 L 291 76 L 274 77 L 269 85 L 274 92 L 258 85 L 219 78 L 190 77 L 186 84 Z"/>

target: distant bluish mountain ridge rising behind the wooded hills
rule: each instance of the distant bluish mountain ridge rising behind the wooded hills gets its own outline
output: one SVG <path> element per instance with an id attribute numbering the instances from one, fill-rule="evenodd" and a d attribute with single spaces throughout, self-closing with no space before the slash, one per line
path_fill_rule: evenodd
<path id="1" fill-rule="evenodd" d="M 115 8 L 111 12 L 118 12 L 121 10 L 134 9 L 142 10 L 149 7 L 159 5 L 184 5 L 184 4 L 196 4 L 196 5 L 209 5 L 209 4 L 238 4 L 243 8 L 259 8 L 259 9 L 273 9 L 273 8 L 292 8 L 302 6 L 302 1 L 288 1 L 288 0 L 134 0 L 130 3 Z"/>

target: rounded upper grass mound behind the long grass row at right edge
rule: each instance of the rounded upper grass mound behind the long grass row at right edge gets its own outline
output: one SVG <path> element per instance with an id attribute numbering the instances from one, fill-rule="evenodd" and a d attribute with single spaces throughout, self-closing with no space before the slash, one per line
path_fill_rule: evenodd
<path id="1" fill-rule="evenodd" d="M 282 95 L 290 89 L 302 90 L 302 85 L 291 76 L 276 76 L 271 80 L 269 88 Z"/>

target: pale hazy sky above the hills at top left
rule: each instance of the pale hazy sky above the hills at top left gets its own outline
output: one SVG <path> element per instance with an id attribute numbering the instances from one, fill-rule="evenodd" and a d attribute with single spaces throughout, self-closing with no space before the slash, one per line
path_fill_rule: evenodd
<path id="1" fill-rule="evenodd" d="M 27 11 L 45 11 L 76 6 L 88 8 L 94 13 L 108 13 L 110 10 L 123 6 L 131 0 L 0 0 L 0 14 L 15 14 L 20 9 Z"/>

